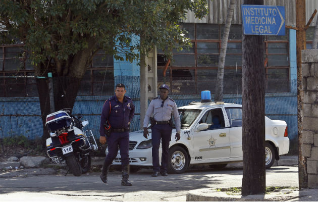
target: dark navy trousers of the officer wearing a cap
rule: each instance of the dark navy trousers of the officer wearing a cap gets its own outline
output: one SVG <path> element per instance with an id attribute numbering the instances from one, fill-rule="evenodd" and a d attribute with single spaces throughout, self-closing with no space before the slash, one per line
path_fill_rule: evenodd
<path id="1" fill-rule="evenodd" d="M 152 165 L 153 171 L 167 171 L 169 160 L 169 142 L 171 140 L 172 127 L 169 124 L 155 124 L 151 127 L 152 139 Z M 159 146 L 162 139 L 161 167 L 159 164 Z"/>

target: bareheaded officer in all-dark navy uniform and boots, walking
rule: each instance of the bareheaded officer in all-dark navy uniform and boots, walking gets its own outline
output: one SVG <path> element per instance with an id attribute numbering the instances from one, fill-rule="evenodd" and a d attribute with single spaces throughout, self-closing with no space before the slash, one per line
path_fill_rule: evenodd
<path id="1" fill-rule="evenodd" d="M 132 100 L 125 96 L 125 85 L 116 85 L 115 96 L 109 98 L 103 105 L 100 117 L 100 138 L 102 144 L 108 142 L 108 155 L 102 166 L 100 179 L 107 183 L 107 174 L 120 148 L 122 160 L 122 185 L 131 186 L 129 182 L 129 125 L 134 117 L 135 106 Z M 105 135 L 107 137 L 105 137 Z"/>

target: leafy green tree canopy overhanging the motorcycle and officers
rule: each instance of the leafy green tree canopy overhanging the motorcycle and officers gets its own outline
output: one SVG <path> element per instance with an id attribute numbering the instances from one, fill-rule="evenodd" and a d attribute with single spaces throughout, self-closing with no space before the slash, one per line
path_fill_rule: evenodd
<path id="1" fill-rule="evenodd" d="M 153 45 L 167 54 L 171 54 L 169 46 L 189 45 L 178 23 L 188 10 L 199 19 L 204 17 L 207 1 L 1 0 L 0 43 L 24 43 L 37 75 L 50 69 L 74 76 L 76 62 L 81 60 L 87 67 L 91 53 L 100 49 L 132 62 Z"/>

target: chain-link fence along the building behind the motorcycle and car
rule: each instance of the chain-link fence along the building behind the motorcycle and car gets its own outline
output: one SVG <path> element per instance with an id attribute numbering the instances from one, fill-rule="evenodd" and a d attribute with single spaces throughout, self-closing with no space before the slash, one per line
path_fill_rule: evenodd
<path id="1" fill-rule="evenodd" d="M 59 106 L 57 103 L 66 102 L 67 78 L 53 78 L 54 99 L 46 99 L 42 96 L 41 101 L 38 94 L 36 79 L 42 79 L 49 83 L 48 78 L 35 77 L 1 77 L 0 78 L 0 137 L 25 136 L 28 139 L 37 139 L 43 135 L 42 114 L 40 102 L 45 105 Z M 116 83 L 129 83 L 126 95 L 133 99 L 135 104 L 135 116 L 131 123 L 131 130 L 140 128 L 140 83 L 139 80 L 131 80 L 131 77 L 115 78 Z M 62 83 L 62 85 L 61 85 Z M 63 84 L 64 83 L 64 84 Z M 158 85 L 163 82 L 159 81 Z M 170 96 L 176 101 L 178 107 L 188 105 L 193 100 L 200 101 L 201 90 L 211 90 L 212 100 L 214 99 L 215 81 L 192 81 L 178 80 L 172 82 Z M 169 82 L 167 84 L 170 84 Z M 101 85 L 101 84 L 100 84 Z M 49 85 L 48 85 L 49 86 Z M 103 90 L 94 90 L 94 88 Z M 92 86 L 87 82 L 81 82 L 76 96 L 72 114 L 82 115 L 87 119 L 95 137 L 99 138 L 99 123 L 102 105 L 114 95 L 114 83 L 104 82 L 102 86 Z M 76 89 L 76 88 L 74 88 Z M 73 90 L 74 90 L 73 89 Z M 242 104 L 241 82 L 236 86 L 224 87 L 224 102 Z M 42 89 L 43 90 L 43 89 Z M 58 93 L 59 92 L 59 93 Z M 266 84 L 266 116 L 271 119 L 284 120 L 288 125 L 289 138 L 297 140 L 297 86 L 296 80 L 282 81 L 270 80 Z M 52 107 L 51 107 L 52 108 Z M 59 110 L 59 109 L 55 109 Z"/>

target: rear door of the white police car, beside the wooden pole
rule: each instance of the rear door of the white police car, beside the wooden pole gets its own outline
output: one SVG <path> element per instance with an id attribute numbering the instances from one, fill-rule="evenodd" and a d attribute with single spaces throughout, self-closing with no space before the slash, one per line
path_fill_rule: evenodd
<path id="1" fill-rule="evenodd" d="M 242 150 L 242 108 L 229 107 L 225 108 L 230 122 L 230 158 L 243 157 Z"/>

